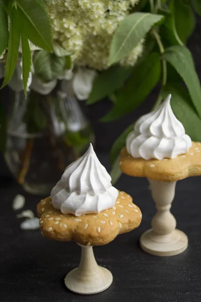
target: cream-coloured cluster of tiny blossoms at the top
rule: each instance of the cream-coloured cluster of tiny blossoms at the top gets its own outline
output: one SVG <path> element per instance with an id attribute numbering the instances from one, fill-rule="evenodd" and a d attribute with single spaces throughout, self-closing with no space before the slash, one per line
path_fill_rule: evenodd
<path id="1" fill-rule="evenodd" d="M 75 64 L 94 69 L 108 67 L 112 36 L 138 0 L 45 0 L 53 39 L 73 53 Z M 142 42 L 120 63 L 134 65 Z"/>

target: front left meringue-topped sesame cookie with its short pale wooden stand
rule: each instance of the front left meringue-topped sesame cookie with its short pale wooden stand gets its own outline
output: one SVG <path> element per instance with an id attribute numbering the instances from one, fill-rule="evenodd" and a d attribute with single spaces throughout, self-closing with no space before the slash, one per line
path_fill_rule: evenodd
<path id="1" fill-rule="evenodd" d="M 65 277 L 66 287 L 81 294 L 103 291 L 112 283 L 111 272 L 96 263 L 93 246 L 136 229 L 142 219 L 131 196 L 112 187 L 92 145 L 65 169 L 51 196 L 37 205 L 37 213 L 44 237 L 81 246 L 79 267 Z"/>

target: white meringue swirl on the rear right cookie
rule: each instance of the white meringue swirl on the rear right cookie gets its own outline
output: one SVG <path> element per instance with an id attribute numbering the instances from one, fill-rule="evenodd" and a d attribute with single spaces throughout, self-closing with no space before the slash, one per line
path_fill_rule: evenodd
<path id="1" fill-rule="evenodd" d="M 171 95 L 153 112 L 143 115 L 126 138 L 127 152 L 145 160 L 173 159 L 192 145 L 182 123 L 170 106 Z"/>

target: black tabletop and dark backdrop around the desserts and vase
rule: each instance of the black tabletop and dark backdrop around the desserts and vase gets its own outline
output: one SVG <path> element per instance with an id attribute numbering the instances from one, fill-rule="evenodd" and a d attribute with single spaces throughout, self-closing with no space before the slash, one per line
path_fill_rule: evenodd
<path id="1" fill-rule="evenodd" d="M 188 46 L 201 78 L 201 20 Z M 89 107 L 89 117 L 96 134 L 96 150 L 109 169 L 108 152 L 115 138 L 140 115 L 150 111 L 158 88 L 135 112 L 121 120 L 99 123 L 109 109 L 103 100 Z M 5 98 L 7 91 L 5 90 Z M 201 100 L 200 100 L 201 101 Z M 201 131 L 201 129 L 200 129 Z M 0 158 L 0 302 L 200 302 L 201 301 L 201 177 L 178 182 L 172 213 L 177 227 L 189 238 L 188 249 L 174 257 L 155 257 L 139 248 L 140 235 L 150 228 L 155 207 L 146 179 L 123 175 L 116 184 L 131 194 L 143 212 L 141 226 L 118 236 L 112 243 L 95 247 L 97 262 L 109 268 L 114 281 L 106 291 L 81 296 L 63 285 L 66 273 L 78 266 L 80 248 L 75 243 L 48 241 L 37 231 L 23 232 L 11 204 L 16 194 L 26 197 L 26 208 L 36 212 L 40 197 L 30 195 L 12 179 L 3 157 Z"/>

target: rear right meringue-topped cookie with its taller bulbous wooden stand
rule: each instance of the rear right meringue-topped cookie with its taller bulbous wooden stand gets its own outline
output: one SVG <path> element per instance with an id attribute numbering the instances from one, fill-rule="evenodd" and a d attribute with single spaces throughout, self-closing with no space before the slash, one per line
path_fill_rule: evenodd
<path id="1" fill-rule="evenodd" d="M 147 177 L 157 213 L 152 229 L 140 239 L 142 249 L 157 256 L 183 252 L 188 238 L 176 228 L 171 214 L 178 180 L 201 175 L 201 143 L 192 142 L 182 123 L 175 117 L 171 95 L 154 111 L 142 116 L 126 138 L 120 168 L 133 177 Z"/>

